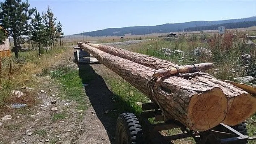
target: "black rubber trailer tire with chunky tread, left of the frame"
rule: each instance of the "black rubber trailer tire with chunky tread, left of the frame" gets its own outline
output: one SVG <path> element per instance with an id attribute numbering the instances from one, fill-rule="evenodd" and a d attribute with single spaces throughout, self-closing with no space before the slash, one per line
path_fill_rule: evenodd
<path id="1" fill-rule="evenodd" d="M 145 144 L 142 127 L 133 113 L 122 113 L 116 122 L 115 144 Z"/>

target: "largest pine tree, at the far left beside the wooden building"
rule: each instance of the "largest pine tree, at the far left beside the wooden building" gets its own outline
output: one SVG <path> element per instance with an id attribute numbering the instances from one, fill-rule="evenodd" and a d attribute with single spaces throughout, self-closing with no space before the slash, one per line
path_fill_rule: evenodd
<path id="1" fill-rule="evenodd" d="M 18 58 L 17 39 L 27 34 L 27 23 L 31 19 L 34 9 L 29 9 L 28 1 L 22 2 L 22 0 L 5 0 L 0 5 L 0 23 L 13 37 L 15 57 Z"/>

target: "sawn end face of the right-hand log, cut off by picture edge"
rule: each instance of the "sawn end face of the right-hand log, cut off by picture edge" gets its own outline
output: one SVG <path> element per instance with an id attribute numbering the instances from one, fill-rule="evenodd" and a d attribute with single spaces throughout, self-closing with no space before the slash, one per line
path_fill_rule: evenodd
<path id="1" fill-rule="evenodd" d="M 233 97 L 229 100 L 229 109 L 223 123 L 229 126 L 237 125 L 256 112 L 256 97 L 249 93 Z"/>

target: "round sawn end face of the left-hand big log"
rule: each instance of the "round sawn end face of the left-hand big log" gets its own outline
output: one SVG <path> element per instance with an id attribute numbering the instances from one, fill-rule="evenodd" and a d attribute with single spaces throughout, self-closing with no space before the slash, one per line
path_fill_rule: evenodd
<path id="1" fill-rule="evenodd" d="M 227 107 L 226 96 L 220 88 L 195 94 L 189 102 L 188 123 L 192 130 L 209 130 L 223 121 Z"/>

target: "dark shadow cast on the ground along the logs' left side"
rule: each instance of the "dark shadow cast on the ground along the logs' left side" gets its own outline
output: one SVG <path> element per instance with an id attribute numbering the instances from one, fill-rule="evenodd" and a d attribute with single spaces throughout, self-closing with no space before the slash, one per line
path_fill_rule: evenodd
<path id="1" fill-rule="evenodd" d="M 82 83 L 89 84 L 88 86 L 85 86 L 85 93 L 89 97 L 91 106 L 95 110 L 99 120 L 102 122 L 111 144 L 114 144 L 115 127 L 118 115 L 123 112 L 131 112 L 130 110 L 133 108 L 127 102 L 119 100 L 118 105 L 122 105 L 123 110 L 113 111 L 118 108 L 116 108 L 116 104 L 113 102 L 112 97 L 118 97 L 118 95 L 115 95 L 109 90 L 102 76 L 97 74 L 93 67 L 88 64 L 78 64 L 78 67 L 79 77 L 81 78 Z M 104 113 L 106 110 L 109 111 L 108 114 Z"/>

